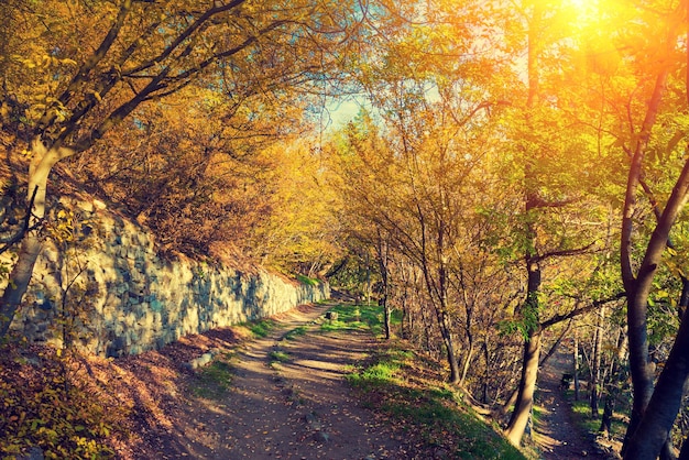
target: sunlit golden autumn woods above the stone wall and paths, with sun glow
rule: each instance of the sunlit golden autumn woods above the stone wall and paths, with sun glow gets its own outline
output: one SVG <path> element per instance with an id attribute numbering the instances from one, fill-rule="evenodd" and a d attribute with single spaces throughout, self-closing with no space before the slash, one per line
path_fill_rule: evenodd
<path id="1" fill-rule="evenodd" d="M 573 341 L 625 458 L 689 456 L 688 6 L 7 0 L 0 336 L 89 194 L 162 254 L 378 302 L 515 446 Z"/>

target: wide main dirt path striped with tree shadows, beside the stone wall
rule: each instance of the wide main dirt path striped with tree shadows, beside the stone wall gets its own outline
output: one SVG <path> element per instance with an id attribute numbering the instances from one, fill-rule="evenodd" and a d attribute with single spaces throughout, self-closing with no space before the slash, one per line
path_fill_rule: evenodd
<path id="1" fill-rule="evenodd" d="M 321 333 L 313 320 L 327 308 L 291 311 L 269 337 L 248 342 L 232 360 L 230 391 L 216 401 L 189 398 L 161 458 L 409 458 L 404 442 L 350 397 L 343 379 L 372 339 Z M 299 326 L 307 326 L 305 335 L 283 339 Z"/>

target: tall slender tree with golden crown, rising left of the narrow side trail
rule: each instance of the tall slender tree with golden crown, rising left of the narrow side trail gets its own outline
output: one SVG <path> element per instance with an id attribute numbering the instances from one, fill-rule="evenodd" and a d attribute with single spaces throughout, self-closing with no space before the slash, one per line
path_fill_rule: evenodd
<path id="1" fill-rule="evenodd" d="M 581 232 L 582 229 L 579 233 L 586 237 L 577 238 L 570 233 L 572 228 L 557 222 L 568 219 L 567 215 L 582 218 L 586 212 L 591 212 L 593 217 L 598 206 L 588 198 L 590 190 L 586 187 L 587 176 L 594 171 L 588 155 L 591 139 L 582 135 L 581 127 L 573 128 L 576 121 L 560 110 L 560 107 L 579 102 L 576 88 L 568 87 L 559 77 L 569 64 L 566 58 L 549 58 L 551 53 L 571 56 L 576 52 L 570 40 L 571 30 L 565 20 L 571 10 L 559 3 L 524 1 L 513 14 L 518 25 L 506 33 L 526 54 L 524 99 L 514 103 L 520 121 L 513 120 L 513 123 L 518 123 L 520 128 L 511 133 L 521 171 L 523 213 L 516 253 L 521 252 L 523 256 L 526 293 L 515 311 L 523 322 L 523 364 L 515 408 L 505 434 L 511 442 L 520 445 L 533 406 L 543 326 L 550 322 L 550 319 L 543 318 L 547 307 L 543 302 L 544 270 L 559 258 L 590 251 L 598 239 L 592 232 Z M 554 127 L 558 127 L 557 131 L 553 130 Z M 565 166 L 572 161 L 579 164 L 576 172 Z"/>

